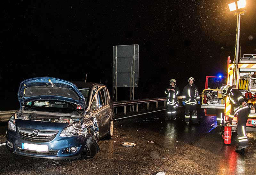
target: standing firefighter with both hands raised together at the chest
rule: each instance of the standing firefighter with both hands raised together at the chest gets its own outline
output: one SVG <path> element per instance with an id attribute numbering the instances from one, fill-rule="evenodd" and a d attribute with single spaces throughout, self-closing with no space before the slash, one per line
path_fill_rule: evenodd
<path id="1" fill-rule="evenodd" d="M 165 94 L 167 94 L 167 107 L 168 107 L 168 117 L 173 118 L 173 120 L 176 120 L 176 109 L 179 106 L 179 102 L 177 101 L 177 96 L 180 94 L 179 87 L 176 86 L 176 80 L 171 79 L 170 80 L 169 87 L 166 88 Z"/>

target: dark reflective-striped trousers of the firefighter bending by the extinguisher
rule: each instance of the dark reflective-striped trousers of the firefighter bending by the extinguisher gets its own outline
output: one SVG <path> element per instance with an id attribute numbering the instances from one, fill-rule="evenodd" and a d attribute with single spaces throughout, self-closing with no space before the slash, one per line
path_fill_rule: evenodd
<path id="1" fill-rule="evenodd" d="M 245 108 L 237 113 L 236 132 L 238 137 L 238 146 L 243 147 L 248 145 L 246 136 L 246 122 L 250 114 L 250 108 Z"/>

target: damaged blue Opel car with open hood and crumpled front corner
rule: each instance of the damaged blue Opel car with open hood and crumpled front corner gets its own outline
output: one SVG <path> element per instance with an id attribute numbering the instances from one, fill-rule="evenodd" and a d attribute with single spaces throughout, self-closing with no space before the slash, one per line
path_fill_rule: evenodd
<path id="1" fill-rule="evenodd" d="M 99 139 L 113 136 L 113 102 L 103 84 L 31 78 L 21 82 L 18 99 L 6 134 L 6 147 L 16 155 L 92 157 L 100 151 Z"/>

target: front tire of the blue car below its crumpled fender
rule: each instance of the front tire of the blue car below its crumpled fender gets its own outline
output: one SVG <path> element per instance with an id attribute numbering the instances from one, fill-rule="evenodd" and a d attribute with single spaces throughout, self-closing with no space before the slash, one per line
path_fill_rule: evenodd
<path id="1" fill-rule="evenodd" d="M 88 139 L 86 139 L 85 146 L 84 146 L 84 156 L 93 157 L 99 151 L 100 151 L 100 147 L 92 137 L 89 137 Z"/>

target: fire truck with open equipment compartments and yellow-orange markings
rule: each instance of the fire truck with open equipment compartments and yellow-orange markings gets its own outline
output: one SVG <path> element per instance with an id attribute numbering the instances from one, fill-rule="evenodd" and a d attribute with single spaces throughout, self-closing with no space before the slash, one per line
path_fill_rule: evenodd
<path id="1" fill-rule="evenodd" d="M 237 68 L 237 69 L 236 69 Z M 231 63 L 230 57 L 227 60 L 226 83 L 234 86 L 246 97 L 246 102 L 251 106 L 251 113 L 246 123 L 247 131 L 256 131 L 256 54 L 244 54 L 239 58 L 236 66 Z M 229 98 L 222 97 L 221 89 L 208 88 L 203 91 L 202 108 L 206 115 L 216 114 L 218 125 L 223 125 L 228 120 L 231 105 Z M 208 111 L 211 113 L 207 114 Z M 232 131 L 236 131 L 237 117 L 233 119 Z"/>

